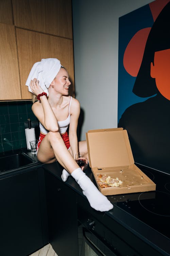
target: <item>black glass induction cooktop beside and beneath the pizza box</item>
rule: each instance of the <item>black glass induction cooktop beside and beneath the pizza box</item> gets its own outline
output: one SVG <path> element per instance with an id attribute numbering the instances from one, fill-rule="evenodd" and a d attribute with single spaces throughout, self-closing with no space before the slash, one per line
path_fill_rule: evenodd
<path id="1" fill-rule="evenodd" d="M 108 196 L 108 199 L 170 239 L 170 174 L 135 164 L 156 184 L 156 190 Z"/>

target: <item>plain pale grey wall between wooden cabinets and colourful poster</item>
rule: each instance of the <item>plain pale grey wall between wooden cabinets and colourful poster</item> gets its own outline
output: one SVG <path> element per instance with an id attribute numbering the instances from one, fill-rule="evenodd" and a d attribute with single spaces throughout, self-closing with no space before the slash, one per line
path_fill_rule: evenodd
<path id="1" fill-rule="evenodd" d="M 151 0 L 72 0 L 76 98 L 90 129 L 117 127 L 119 17 Z"/>

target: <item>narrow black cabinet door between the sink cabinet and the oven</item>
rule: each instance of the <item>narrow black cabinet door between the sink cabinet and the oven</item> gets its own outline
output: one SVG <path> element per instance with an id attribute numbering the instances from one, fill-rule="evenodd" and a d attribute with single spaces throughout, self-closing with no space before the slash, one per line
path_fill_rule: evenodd
<path id="1" fill-rule="evenodd" d="M 49 172 L 45 173 L 49 242 L 59 256 L 79 255 L 76 193 Z"/>

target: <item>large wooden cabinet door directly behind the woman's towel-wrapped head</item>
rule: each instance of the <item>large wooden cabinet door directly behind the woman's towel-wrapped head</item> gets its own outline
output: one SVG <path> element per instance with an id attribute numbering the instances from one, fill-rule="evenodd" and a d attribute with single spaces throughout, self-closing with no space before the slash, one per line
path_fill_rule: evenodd
<path id="1" fill-rule="evenodd" d="M 43 58 L 57 58 L 61 61 L 70 76 L 69 95 L 74 96 L 73 41 L 20 28 L 16 28 L 16 37 L 22 99 L 31 99 L 25 84 L 34 63 Z"/>

